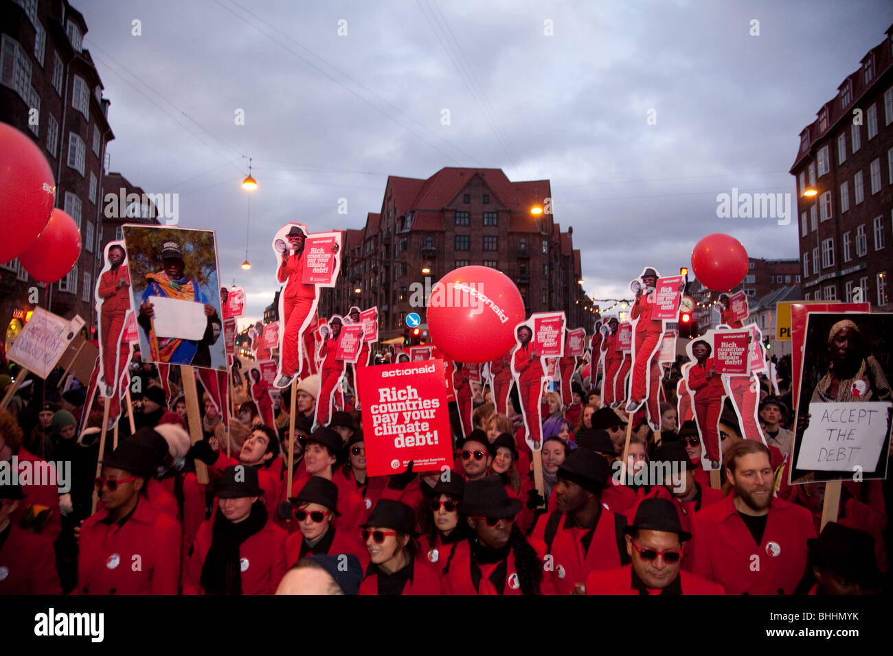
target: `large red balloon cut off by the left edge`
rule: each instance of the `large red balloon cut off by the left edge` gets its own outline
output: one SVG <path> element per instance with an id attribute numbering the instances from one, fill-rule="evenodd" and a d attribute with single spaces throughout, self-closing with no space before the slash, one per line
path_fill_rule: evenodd
<path id="1" fill-rule="evenodd" d="M 0 262 L 18 257 L 46 228 L 55 180 L 31 137 L 0 123 Z"/>

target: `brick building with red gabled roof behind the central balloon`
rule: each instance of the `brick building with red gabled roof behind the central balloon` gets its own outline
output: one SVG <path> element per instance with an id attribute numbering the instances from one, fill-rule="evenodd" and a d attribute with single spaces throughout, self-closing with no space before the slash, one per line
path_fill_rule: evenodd
<path id="1" fill-rule="evenodd" d="M 413 283 L 424 285 L 427 276 L 433 285 L 450 270 L 477 264 L 512 278 L 528 314 L 563 310 L 569 327 L 591 332 L 580 251 L 573 229 L 562 232 L 544 205 L 550 196 L 548 180 L 513 182 L 499 169 L 389 176 L 380 212 L 370 212 L 362 229 L 344 231 L 341 276 L 336 288 L 322 291 L 321 316 L 378 305 L 380 340 L 401 336 L 406 314 L 417 311 L 424 320 L 424 308 L 410 304 Z M 531 214 L 534 206 L 547 212 Z"/>

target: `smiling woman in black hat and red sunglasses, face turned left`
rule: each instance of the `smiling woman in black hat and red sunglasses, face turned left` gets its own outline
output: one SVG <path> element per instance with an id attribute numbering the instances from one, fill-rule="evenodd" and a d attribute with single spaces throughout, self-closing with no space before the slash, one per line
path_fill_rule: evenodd
<path id="1" fill-rule="evenodd" d="M 376 504 L 363 524 L 371 562 L 360 594 L 440 594 L 437 572 L 415 558 L 414 529 L 415 513 L 405 503 L 382 499 Z"/>

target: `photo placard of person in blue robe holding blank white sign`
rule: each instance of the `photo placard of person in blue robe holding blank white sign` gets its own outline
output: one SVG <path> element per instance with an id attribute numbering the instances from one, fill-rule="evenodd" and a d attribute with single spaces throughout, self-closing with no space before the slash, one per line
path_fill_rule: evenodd
<path id="1" fill-rule="evenodd" d="M 213 230 L 121 227 L 144 362 L 226 370 Z"/>

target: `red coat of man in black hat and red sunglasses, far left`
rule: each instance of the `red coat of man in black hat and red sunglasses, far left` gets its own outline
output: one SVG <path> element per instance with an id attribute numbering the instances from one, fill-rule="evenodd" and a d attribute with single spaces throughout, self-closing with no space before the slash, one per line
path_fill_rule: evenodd
<path id="1" fill-rule="evenodd" d="M 177 594 L 179 524 L 146 499 L 124 526 L 96 511 L 80 527 L 75 594 Z"/>

